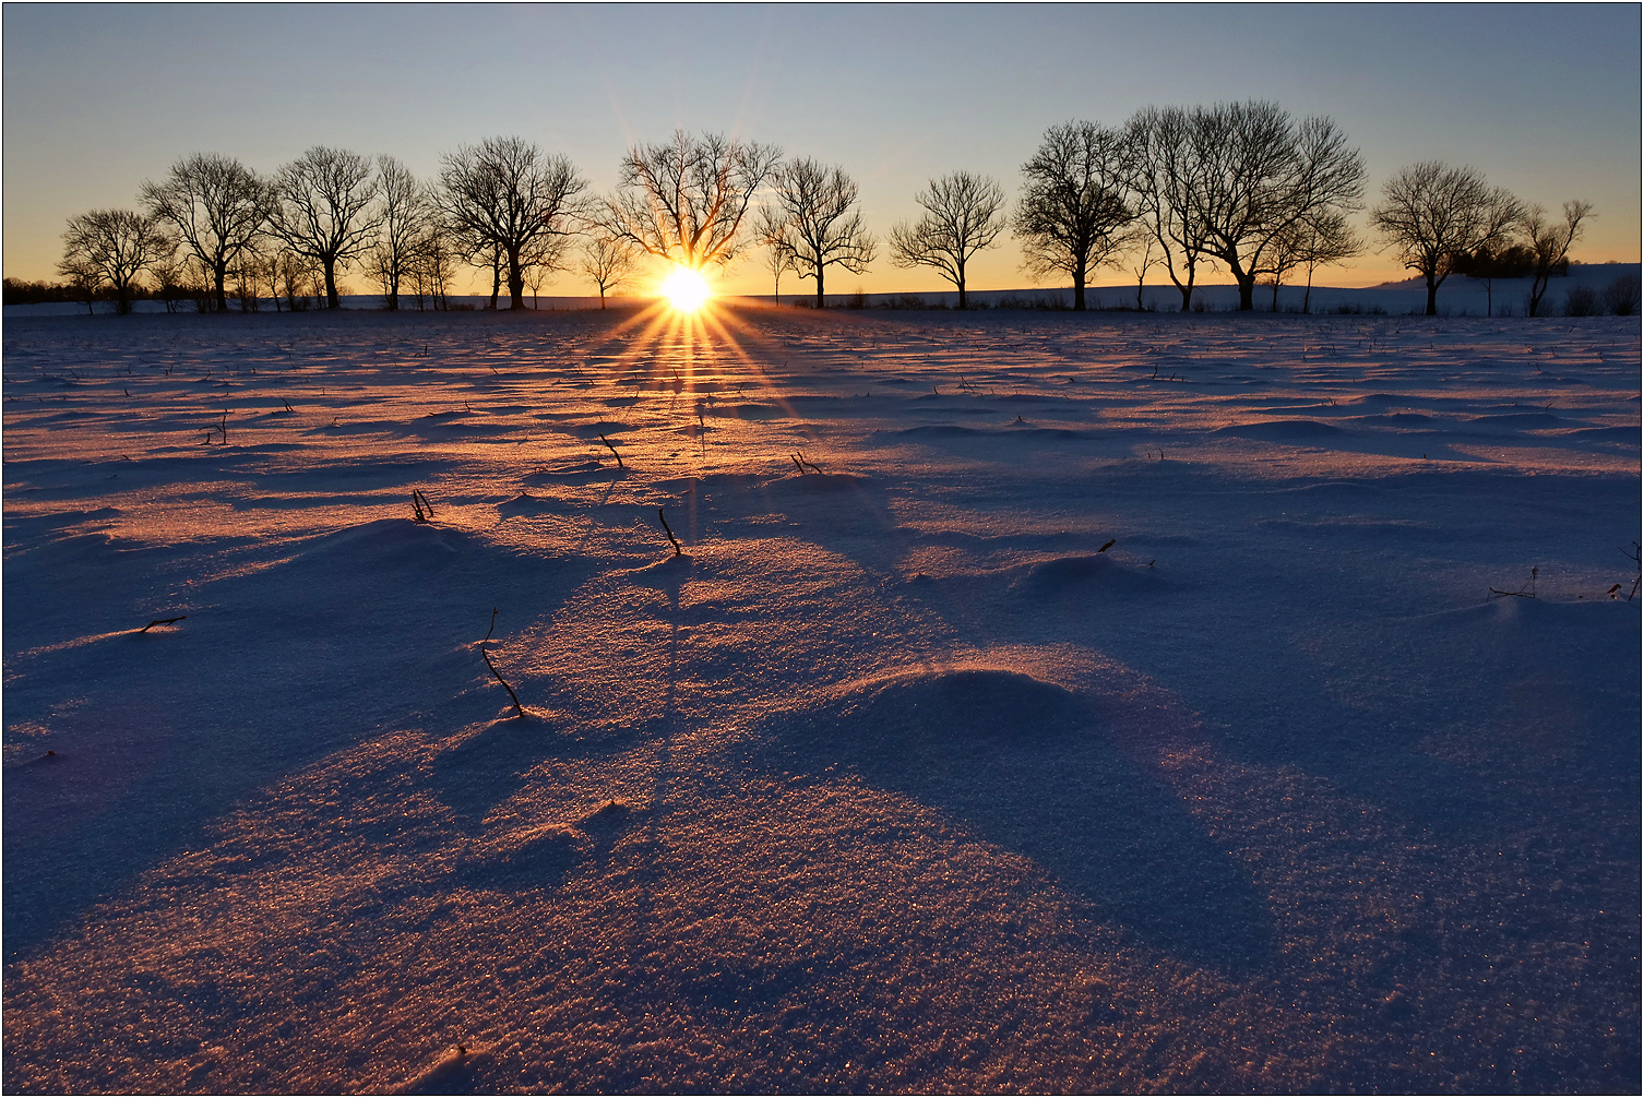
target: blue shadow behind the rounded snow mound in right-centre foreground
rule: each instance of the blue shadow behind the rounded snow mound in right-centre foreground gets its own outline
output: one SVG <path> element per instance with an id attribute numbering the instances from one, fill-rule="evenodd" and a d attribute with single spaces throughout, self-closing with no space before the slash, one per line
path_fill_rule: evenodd
<path id="1" fill-rule="evenodd" d="M 1271 953 L 1248 876 L 1070 690 L 990 667 L 909 672 L 768 718 L 755 763 L 842 766 L 1021 851 L 1106 919 L 1185 962 L 1248 970 Z"/>

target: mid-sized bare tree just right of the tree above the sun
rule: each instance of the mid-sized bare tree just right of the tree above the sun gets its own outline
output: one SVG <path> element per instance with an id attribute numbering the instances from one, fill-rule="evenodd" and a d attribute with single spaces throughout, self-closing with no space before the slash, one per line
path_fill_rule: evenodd
<path id="1" fill-rule="evenodd" d="M 824 306 L 822 279 L 830 266 L 861 274 L 873 263 L 878 242 L 861 224 L 857 182 L 843 168 L 814 159 L 791 159 L 771 173 L 771 205 L 760 212 L 760 238 L 786 253 L 786 266 L 799 278 L 814 278 L 817 309 Z M 773 273 L 778 260 L 769 260 Z M 778 294 L 781 296 L 781 294 Z"/>

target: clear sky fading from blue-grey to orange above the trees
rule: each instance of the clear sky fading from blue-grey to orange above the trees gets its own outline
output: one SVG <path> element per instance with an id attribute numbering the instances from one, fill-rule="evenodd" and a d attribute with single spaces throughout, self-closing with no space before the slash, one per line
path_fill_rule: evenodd
<path id="1" fill-rule="evenodd" d="M 393 153 L 427 178 L 441 153 L 516 133 L 607 191 L 628 143 L 677 127 L 842 164 L 883 237 L 954 169 L 995 176 L 1014 201 L 1049 125 L 1233 99 L 1333 117 L 1365 155 L 1371 201 L 1402 164 L 1468 163 L 1549 209 L 1593 202 L 1573 255 L 1637 261 L 1639 58 L 1634 3 L 7 3 L 3 263 L 10 278 L 53 278 L 67 217 L 135 207 L 138 184 L 191 151 L 273 171 L 332 145 Z M 1019 265 L 1006 240 L 970 286 L 1026 286 Z M 1322 281 L 1402 276 L 1368 255 Z M 727 288 L 768 286 L 750 260 Z M 944 284 L 881 255 L 861 278 L 830 273 L 832 293 L 858 288 Z M 561 274 L 546 293 L 592 291 Z"/>

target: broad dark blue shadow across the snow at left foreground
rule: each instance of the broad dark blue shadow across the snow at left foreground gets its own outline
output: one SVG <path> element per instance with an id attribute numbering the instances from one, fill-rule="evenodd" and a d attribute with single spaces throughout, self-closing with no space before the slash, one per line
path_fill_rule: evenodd
<path id="1" fill-rule="evenodd" d="M 43 945 L 252 791 L 388 722 L 495 717 L 506 700 L 472 649 L 492 607 L 506 639 L 589 572 L 470 531 L 380 519 L 201 585 L 202 605 L 169 634 L 35 657 L 8 687 L 15 718 L 51 712 L 59 684 L 76 684 L 81 704 L 53 720 L 53 766 L 7 769 L 7 957 Z"/>

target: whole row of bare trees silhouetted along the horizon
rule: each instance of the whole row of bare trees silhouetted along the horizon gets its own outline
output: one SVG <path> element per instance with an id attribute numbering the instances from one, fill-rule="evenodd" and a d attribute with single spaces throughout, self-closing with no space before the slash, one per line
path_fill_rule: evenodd
<path id="1" fill-rule="evenodd" d="M 1024 270 L 1064 276 L 1074 307 L 1103 266 L 1164 271 L 1192 307 L 1205 268 L 1238 284 L 1240 309 L 1258 286 L 1305 279 L 1368 250 L 1351 225 L 1365 209 L 1358 150 L 1328 117 L 1292 117 L 1268 100 L 1148 107 L 1123 125 L 1051 127 L 1023 164 L 1008 209 L 1004 187 L 955 171 L 914 197 L 922 214 L 881 242 L 863 222 L 857 182 L 842 166 L 784 159 L 776 146 L 677 131 L 628 148 L 615 192 L 593 196 L 562 155 L 520 136 L 487 138 L 441 158 L 419 181 L 393 156 L 316 146 L 271 176 L 215 153 L 194 153 L 138 189 L 140 209 L 71 217 L 58 266 L 71 286 L 107 294 L 120 312 L 148 293 L 168 306 L 192 299 L 225 311 L 230 288 L 279 307 L 339 306 L 339 276 L 362 271 L 385 307 L 447 307 L 462 265 L 492 276 L 490 307 L 506 289 L 524 307 L 556 271 L 575 271 L 607 294 L 644 256 L 692 270 L 763 250 L 781 276 L 812 279 L 824 304 L 829 268 L 861 274 L 881 243 L 899 268 L 929 268 L 967 307 L 967 268 L 1006 232 Z M 1424 161 L 1399 169 L 1369 209 L 1378 243 L 1425 279 L 1427 312 L 1455 273 L 1531 276 L 1529 312 L 1593 215 L 1588 202 L 1550 217 L 1486 182 L 1473 168 Z M 1304 296 L 1304 311 L 1307 296 Z"/>

